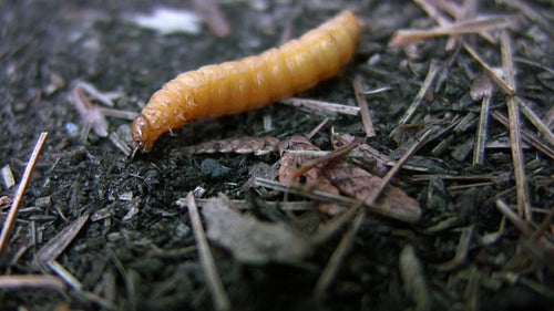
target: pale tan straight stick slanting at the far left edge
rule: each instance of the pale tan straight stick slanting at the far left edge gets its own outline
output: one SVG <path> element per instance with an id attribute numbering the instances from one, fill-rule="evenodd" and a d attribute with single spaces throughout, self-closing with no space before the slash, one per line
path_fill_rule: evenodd
<path id="1" fill-rule="evenodd" d="M 37 159 L 39 158 L 40 151 L 42 149 L 42 146 L 47 141 L 47 137 L 48 137 L 48 132 L 42 132 L 40 134 L 39 139 L 34 145 L 34 149 L 31 154 L 31 158 L 29 159 L 29 163 L 25 166 L 25 170 L 23 172 L 23 177 L 21 177 L 21 183 L 19 184 L 18 191 L 16 193 L 16 197 L 13 198 L 13 203 L 11 204 L 8 217 L 6 217 L 6 221 L 2 228 L 2 234 L 0 235 L 0 252 L 2 252 L 3 245 L 8 239 L 11 229 L 11 224 L 13 224 L 13 220 L 16 219 L 16 214 L 18 212 L 19 204 L 23 198 L 23 193 L 25 191 L 27 184 L 29 184 L 31 172 L 33 170 Z"/>

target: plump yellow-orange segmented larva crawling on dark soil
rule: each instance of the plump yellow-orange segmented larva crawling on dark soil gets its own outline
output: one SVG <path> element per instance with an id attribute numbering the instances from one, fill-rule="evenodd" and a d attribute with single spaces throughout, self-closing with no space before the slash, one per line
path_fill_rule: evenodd
<path id="1" fill-rule="evenodd" d="M 133 139 L 148 152 L 185 121 L 242 113 L 307 90 L 350 60 L 359 31 L 356 15 L 345 11 L 260 55 L 182 73 L 152 95 L 133 122 Z"/>

